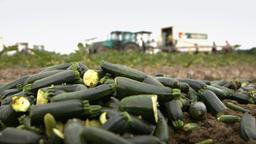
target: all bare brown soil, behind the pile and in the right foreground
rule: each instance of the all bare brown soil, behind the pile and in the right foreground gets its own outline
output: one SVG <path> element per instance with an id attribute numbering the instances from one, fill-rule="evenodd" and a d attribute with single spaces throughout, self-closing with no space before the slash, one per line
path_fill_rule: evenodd
<path id="1" fill-rule="evenodd" d="M 183 67 L 160 67 L 160 68 L 138 68 L 149 74 L 167 74 L 174 77 L 192 77 L 195 79 L 246 79 L 256 80 L 256 68 L 254 66 L 229 66 L 219 68 L 205 68 L 201 66 Z M 21 76 L 33 74 L 40 69 L 1 69 L 0 83 L 15 80 Z M 232 101 L 234 102 L 234 101 Z M 256 116 L 256 105 L 240 105 L 248 108 Z M 228 110 L 227 114 L 242 115 L 240 112 Z M 185 112 L 186 122 L 189 121 L 188 114 Z M 215 144 L 246 144 L 240 137 L 240 123 L 225 124 L 218 122 L 216 117 L 211 114 L 200 123 L 200 128 L 192 132 L 170 129 L 170 144 L 192 144 L 204 139 L 213 139 Z"/>

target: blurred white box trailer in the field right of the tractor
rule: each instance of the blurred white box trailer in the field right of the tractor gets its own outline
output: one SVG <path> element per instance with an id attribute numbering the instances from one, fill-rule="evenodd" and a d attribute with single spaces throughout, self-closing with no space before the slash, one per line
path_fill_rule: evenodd
<path id="1" fill-rule="evenodd" d="M 208 34 L 191 32 L 174 26 L 161 29 L 161 39 L 158 47 L 164 52 L 211 52 L 221 45 L 208 40 Z"/>

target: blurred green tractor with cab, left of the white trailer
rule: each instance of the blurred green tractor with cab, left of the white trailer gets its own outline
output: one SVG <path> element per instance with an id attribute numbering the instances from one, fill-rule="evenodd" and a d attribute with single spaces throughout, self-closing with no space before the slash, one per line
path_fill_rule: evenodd
<path id="1" fill-rule="evenodd" d="M 109 49 L 120 51 L 143 51 L 137 39 L 138 33 L 129 31 L 112 31 L 110 38 L 91 44 L 89 53 L 103 52 Z"/>

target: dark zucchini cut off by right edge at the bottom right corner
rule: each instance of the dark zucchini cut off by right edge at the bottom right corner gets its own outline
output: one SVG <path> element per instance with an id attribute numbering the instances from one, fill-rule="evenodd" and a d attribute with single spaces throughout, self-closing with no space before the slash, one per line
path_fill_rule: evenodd
<path id="1" fill-rule="evenodd" d="M 240 122 L 240 134 L 246 141 L 256 140 L 256 120 L 255 117 L 249 113 L 244 113 L 242 116 Z"/>

